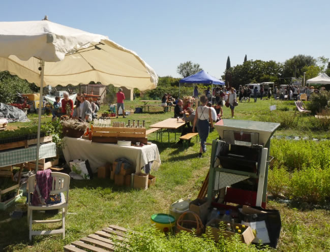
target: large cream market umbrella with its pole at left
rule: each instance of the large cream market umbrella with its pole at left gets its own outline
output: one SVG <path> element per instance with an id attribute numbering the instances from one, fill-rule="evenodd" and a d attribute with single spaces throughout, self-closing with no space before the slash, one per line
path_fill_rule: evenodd
<path id="1" fill-rule="evenodd" d="M 158 76 L 134 51 L 106 36 L 48 21 L 0 22 L 0 71 L 40 86 L 78 85 L 89 81 L 154 89 Z M 39 105 L 36 170 L 40 145 Z"/>

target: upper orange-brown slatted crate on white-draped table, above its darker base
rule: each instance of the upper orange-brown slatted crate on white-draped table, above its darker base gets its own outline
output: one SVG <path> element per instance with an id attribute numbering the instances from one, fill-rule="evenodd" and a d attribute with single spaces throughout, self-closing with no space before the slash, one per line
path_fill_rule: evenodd
<path id="1" fill-rule="evenodd" d="M 93 136 L 144 138 L 145 131 L 145 128 L 94 127 Z"/>

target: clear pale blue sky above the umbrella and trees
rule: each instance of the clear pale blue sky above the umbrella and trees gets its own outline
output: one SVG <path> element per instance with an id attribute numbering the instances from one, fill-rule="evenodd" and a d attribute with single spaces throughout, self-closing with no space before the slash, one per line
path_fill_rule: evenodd
<path id="1" fill-rule="evenodd" d="M 248 59 L 330 57 L 330 1 L 2 1 L 0 21 L 49 20 L 108 36 L 159 76 L 191 60 L 220 78 Z"/>

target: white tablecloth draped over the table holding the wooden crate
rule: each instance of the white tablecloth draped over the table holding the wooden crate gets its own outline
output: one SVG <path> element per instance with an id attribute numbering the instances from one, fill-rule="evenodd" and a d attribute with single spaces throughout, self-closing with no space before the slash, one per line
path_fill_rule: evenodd
<path id="1" fill-rule="evenodd" d="M 94 173 L 98 167 L 105 163 L 113 163 L 119 157 L 125 157 L 132 162 L 138 173 L 141 168 L 154 161 L 153 170 L 157 170 L 161 164 L 158 147 L 156 144 L 143 147 L 118 146 L 110 143 L 95 143 L 81 138 L 65 137 L 63 154 L 67 163 L 74 159 L 88 160 Z"/>

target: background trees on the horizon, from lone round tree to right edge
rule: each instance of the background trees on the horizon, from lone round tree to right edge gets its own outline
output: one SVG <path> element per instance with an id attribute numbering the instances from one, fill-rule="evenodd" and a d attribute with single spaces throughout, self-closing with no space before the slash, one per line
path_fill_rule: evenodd
<path id="1" fill-rule="evenodd" d="M 201 70 L 199 64 L 193 64 L 191 61 L 177 67 L 177 73 L 184 78 Z M 245 55 L 243 64 L 234 67 L 231 67 L 228 56 L 226 70 L 221 78 L 225 80 L 226 86 L 237 88 L 239 85 L 260 82 L 288 84 L 291 77 L 303 78 L 306 73 L 305 79 L 308 80 L 323 72 L 330 75 L 330 62 L 324 56 L 314 58 L 310 55 L 299 54 L 281 63 L 274 60 L 248 60 Z"/>

